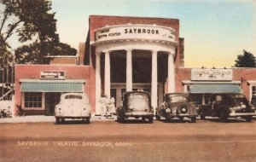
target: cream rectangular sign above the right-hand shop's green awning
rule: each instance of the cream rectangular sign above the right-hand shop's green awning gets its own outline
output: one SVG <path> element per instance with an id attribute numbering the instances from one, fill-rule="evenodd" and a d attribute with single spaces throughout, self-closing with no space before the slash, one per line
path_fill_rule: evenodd
<path id="1" fill-rule="evenodd" d="M 232 69 L 191 69 L 191 80 L 230 81 L 232 79 Z"/>

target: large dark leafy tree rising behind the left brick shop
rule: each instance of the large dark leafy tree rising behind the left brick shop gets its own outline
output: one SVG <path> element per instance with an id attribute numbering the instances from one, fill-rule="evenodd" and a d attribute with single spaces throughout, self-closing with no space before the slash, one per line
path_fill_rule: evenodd
<path id="1" fill-rule="evenodd" d="M 49 0 L 0 0 L 0 55 L 7 55 L 0 60 L 8 58 L 12 49 L 8 40 L 15 35 L 20 43 L 26 43 L 15 49 L 20 63 L 44 63 L 44 56 L 56 51 L 57 55 L 75 55 L 76 49 L 59 43 L 55 13 L 49 13 L 50 10 Z"/>

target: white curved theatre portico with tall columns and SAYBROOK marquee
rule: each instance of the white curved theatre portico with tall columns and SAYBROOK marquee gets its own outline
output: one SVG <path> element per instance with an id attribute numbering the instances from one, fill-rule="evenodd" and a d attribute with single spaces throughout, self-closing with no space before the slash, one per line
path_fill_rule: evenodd
<path id="1" fill-rule="evenodd" d="M 158 98 L 160 97 L 158 96 L 157 56 L 158 52 L 165 52 L 168 54 L 168 92 L 175 92 L 174 57 L 176 55 L 177 43 L 174 41 L 174 32 L 172 28 L 154 25 L 108 26 L 96 31 L 96 42 L 92 43 L 96 48 L 96 113 L 100 113 L 98 101 L 102 94 L 103 80 L 104 94 L 110 96 L 110 55 L 112 51 L 126 51 L 126 91 L 131 91 L 135 88 L 132 82 L 132 51 L 150 51 L 150 55 L 145 54 L 141 57 L 152 58 L 150 91 L 152 107 L 154 108 L 157 107 Z M 101 78 L 101 55 L 105 55 L 104 78 Z"/>

